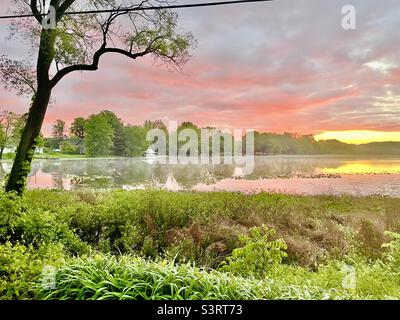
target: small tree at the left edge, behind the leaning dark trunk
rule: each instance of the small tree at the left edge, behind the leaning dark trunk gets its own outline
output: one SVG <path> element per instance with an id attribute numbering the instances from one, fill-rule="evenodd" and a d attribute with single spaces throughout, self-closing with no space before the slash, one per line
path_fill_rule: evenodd
<path id="1" fill-rule="evenodd" d="M 0 113 L 0 159 L 3 157 L 5 148 L 18 145 L 25 120 L 25 115 L 18 115 L 7 110 Z"/>

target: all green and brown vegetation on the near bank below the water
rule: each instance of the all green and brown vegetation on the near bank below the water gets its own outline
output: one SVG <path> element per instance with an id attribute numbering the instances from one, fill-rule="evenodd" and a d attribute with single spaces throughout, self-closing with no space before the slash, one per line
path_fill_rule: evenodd
<path id="1" fill-rule="evenodd" d="M 0 194 L 2 299 L 398 299 L 400 199 Z M 56 269 L 55 289 L 43 267 Z"/>

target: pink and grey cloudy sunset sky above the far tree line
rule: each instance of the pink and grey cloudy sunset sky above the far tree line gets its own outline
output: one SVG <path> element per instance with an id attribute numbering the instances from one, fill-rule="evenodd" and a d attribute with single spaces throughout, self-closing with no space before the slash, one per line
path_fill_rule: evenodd
<path id="1" fill-rule="evenodd" d="M 355 30 L 342 27 L 349 4 Z M 99 71 L 71 75 L 54 90 L 45 135 L 56 119 L 108 109 L 130 124 L 161 119 L 400 141 L 398 0 L 276 0 L 178 12 L 180 27 L 197 40 L 182 72 L 108 55 Z M 24 57 L 26 46 L 3 41 L 7 35 L 8 22 L 0 21 L 0 54 Z M 29 98 L 0 87 L 0 111 L 28 106 Z"/>

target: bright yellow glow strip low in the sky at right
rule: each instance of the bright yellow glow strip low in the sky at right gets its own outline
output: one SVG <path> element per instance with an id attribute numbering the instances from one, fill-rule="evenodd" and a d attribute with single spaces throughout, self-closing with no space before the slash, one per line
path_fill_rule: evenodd
<path id="1" fill-rule="evenodd" d="M 370 142 L 400 141 L 400 132 L 369 130 L 327 131 L 315 136 L 319 140 L 339 140 L 345 143 L 363 144 Z"/>

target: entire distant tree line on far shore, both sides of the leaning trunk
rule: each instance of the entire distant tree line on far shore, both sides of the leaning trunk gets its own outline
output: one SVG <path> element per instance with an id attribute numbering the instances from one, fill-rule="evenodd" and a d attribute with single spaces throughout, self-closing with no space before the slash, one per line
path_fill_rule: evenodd
<path id="1" fill-rule="evenodd" d="M 0 113 L 0 159 L 6 148 L 18 145 L 21 131 L 26 122 L 26 115 L 4 111 Z M 142 125 L 125 125 L 123 121 L 109 110 L 92 114 L 88 118 L 75 118 L 67 128 L 63 120 L 56 120 L 52 127 L 52 136 L 41 136 L 39 146 L 47 152 L 64 154 L 86 154 L 88 156 L 141 156 L 153 141 L 146 141 L 147 132 L 160 129 L 166 134 L 168 128 L 161 120 L 147 120 Z M 179 134 L 185 129 L 193 129 L 199 137 L 198 153 L 201 152 L 201 129 L 192 122 L 183 122 L 177 128 Z M 207 127 L 205 129 L 214 129 Z M 221 133 L 220 131 L 217 131 Z M 167 135 L 168 136 L 168 135 Z M 189 137 L 188 137 L 189 139 Z M 233 137 L 221 134 L 219 137 L 224 151 L 224 140 Z M 187 140 L 188 141 L 188 140 Z M 187 141 L 178 141 L 178 147 Z M 168 143 L 168 141 L 167 141 Z M 211 150 L 211 141 L 209 142 Z M 245 151 L 245 143 L 243 143 Z M 316 141 L 312 135 L 293 133 L 254 133 L 254 151 L 257 155 L 316 155 L 316 154 L 349 154 L 349 155 L 400 155 L 400 142 L 376 142 L 353 145 L 338 140 Z"/>

